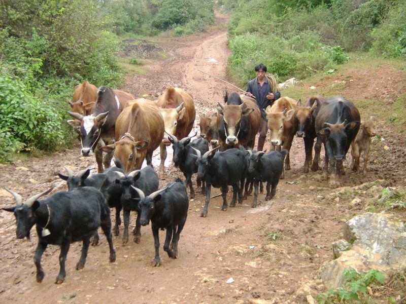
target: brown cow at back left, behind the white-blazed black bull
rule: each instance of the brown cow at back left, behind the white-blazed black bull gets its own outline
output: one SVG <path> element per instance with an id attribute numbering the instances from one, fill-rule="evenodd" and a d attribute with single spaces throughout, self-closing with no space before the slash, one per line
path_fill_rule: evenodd
<path id="1" fill-rule="evenodd" d="M 72 100 L 67 99 L 67 103 L 72 107 L 72 112 L 82 116 L 90 115 L 97 100 L 96 86 L 83 82 L 75 87 Z"/>

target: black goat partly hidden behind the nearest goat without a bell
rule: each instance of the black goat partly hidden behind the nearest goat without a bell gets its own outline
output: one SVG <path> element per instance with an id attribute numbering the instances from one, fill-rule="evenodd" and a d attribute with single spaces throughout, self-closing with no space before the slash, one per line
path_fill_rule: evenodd
<path id="1" fill-rule="evenodd" d="M 130 222 L 130 211 L 137 212 L 136 229 L 133 231 L 134 242 L 137 244 L 141 240 L 141 224 L 140 224 L 140 209 L 138 204 L 133 203 L 130 198 L 138 197 L 138 193 L 131 187 L 135 186 L 142 190 L 145 195 L 158 190 L 159 180 L 158 174 L 151 166 L 146 166 L 142 170 L 136 170 L 125 175 L 120 172 L 116 172 L 119 178 L 116 179 L 116 183 L 120 185 L 122 190 L 121 205 L 123 207 L 123 220 L 124 220 L 124 233 L 123 244 L 128 242 L 128 225 Z"/>

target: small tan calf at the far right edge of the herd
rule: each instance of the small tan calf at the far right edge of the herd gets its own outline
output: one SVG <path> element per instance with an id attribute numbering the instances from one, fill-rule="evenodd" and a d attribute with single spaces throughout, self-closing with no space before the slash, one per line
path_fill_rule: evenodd
<path id="1" fill-rule="evenodd" d="M 371 139 L 375 135 L 377 134 L 375 133 L 375 124 L 372 117 L 370 118 L 370 120 L 360 124 L 357 136 L 351 143 L 351 154 L 352 154 L 351 167 L 353 171 L 355 172 L 358 171 L 359 157 L 361 155 L 361 152 L 364 151 L 363 154 L 364 169 L 362 170 L 362 174 L 363 175 L 366 174 L 366 163 L 368 162 L 369 147 L 371 144 Z"/>

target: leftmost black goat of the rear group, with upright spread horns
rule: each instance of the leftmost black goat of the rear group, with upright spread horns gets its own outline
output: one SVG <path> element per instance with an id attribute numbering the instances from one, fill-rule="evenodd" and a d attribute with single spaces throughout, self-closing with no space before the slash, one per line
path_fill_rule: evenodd
<path id="1" fill-rule="evenodd" d="M 196 165 L 196 152 L 194 149 L 199 150 L 201 154 L 205 154 L 209 150 L 209 142 L 206 139 L 198 138 L 194 139 L 190 142 L 190 139 L 193 136 L 182 138 L 178 140 L 175 135 L 169 134 L 165 131 L 169 141 L 172 142 L 172 147 L 174 149 L 174 163 L 175 167 L 179 167 L 181 169 L 183 175 L 185 175 L 185 183 L 189 185 L 190 189 L 190 199 L 194 199 L 194 190 L 193 190 L 193 183 L 192 183 L 192 175 L 193 173 L 197 173 L 197 165 Z M 193 149 L 194 148 L 194 149 Z M 197 179 L 197 186 L 200 186 L 201 180 Z M 202 185 L 202 191 L 204 191 L 205 182 Z"/>

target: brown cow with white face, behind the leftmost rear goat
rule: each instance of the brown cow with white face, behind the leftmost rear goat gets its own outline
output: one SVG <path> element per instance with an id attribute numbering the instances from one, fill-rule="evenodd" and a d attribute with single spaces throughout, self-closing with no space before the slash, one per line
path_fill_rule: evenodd
<path id="1" fill-rule="evenodd" d="M 158 98 L 156 103 L 161 110 L 161 115 L 165 123 L 165 131 L 175 135 L 178 140 L 188 136 L 193 128 L 194 119 L 196 117 L 192 95 L 182 89 L 171 87 Z M 166 146 L 170 144 L 171 142 L 165 138 L 160 145 L 160 174 L 164 172 Z"/>

